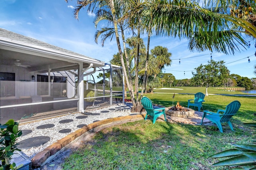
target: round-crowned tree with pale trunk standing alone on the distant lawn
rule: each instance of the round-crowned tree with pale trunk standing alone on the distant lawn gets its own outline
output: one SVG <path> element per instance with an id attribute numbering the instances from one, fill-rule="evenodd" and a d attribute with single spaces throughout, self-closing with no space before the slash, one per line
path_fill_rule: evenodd
<path id="1" fill-rule="evenodd" d="M 224 63 L 224 61 L 210 60 L 208 64 L 200 64 L 200 66 L 194 68 L 196 71 L 192 72 L 193 81 L 199 86 L 206 86 L 206 96 L 208 96 L 208 87 L 222 84 L 226 73 L 229 72 Z"/>

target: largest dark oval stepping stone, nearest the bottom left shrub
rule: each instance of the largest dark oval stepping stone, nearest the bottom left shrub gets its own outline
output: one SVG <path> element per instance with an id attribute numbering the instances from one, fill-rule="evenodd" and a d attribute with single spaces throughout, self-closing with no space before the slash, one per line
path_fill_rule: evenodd
<path id="1" fill-rule="evenodd" d="M 31 137 L 20 141 L 20 145 L 18 145 L 18 149 L 29 149 L 32 147 L 38 147 L 40 145 L 45 144 L 46 142 L 50 141 L 50 137 L 48 136 L 38 136 L 38 137 Z"/>

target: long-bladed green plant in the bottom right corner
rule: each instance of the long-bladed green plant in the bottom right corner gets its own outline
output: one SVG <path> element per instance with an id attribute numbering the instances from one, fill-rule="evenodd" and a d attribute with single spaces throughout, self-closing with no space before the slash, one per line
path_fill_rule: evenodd
<path id="1" fill-rule="evenodd" d="M 254 113 L 256 115 L 256 113 Z M 256 119 L 254 119 L 256 120 Z M 244 123 L 250 127 L 256 127 L 256 123 Z M 252 139 L 256 142 L 256 138 Z M 212 164 L 212 166 L 239 166 L 232 169 L 252 170 L 256 169 L 256 145 L 232 144 L 234 149 L 224 150 L 213 154 L 211 158 L 231 157 Z"/>

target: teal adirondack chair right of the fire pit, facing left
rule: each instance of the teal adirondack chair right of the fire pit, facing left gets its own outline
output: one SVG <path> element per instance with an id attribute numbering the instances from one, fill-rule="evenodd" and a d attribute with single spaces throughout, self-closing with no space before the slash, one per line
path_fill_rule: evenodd
<path id="1" fill-rule="evenodd" d="M 240 102 L 235 100 L 235 101 L 231 102 L 230 104 L 228 104 L 226 106 L 225 110 L 219 109 L 217 111 L 217 113 L 214 113 L 214 112 L 211 112 L 211 111 L 208 111 L 208 110 L 204 110 L 204 115 L 202 117 L 201 125 L 203 124 L 204 117 L 206 117 L 207 119 L 209 119 L 210 121 L 212 121 L 213 123 L 215 123 L 218 126 L 221 133 L 223 133 L 221 123 L 224 123 L 224 122 L 227 122 L 228 125 L 230 126 L 230 129 L 232 131 L 234 131 L 234 129 L 232 127 L 232 124 L 230 122 L 230 118 L 234 114 L 236 114 L 236 112 L 238 111 L 240 106 L 241 106 Z M 219 112 L 224 112 L 224 113 L 219 114 Z"/>

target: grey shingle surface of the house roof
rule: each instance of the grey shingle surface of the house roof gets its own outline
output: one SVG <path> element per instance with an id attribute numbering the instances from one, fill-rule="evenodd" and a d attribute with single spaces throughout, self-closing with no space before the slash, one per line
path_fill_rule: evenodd
<path id="1" fill-rule="evenodd" d="M 93 59 L 91 57 L 87 57 L 85 55 L 81 55 L 81 54 L 75 53 L 73 51 L 62 49 L 62 48 L 57 47 L 55 45 L 51 45 L 51 44 L 45 43 L 43 41 L 39 41 L 37 39 L 26 37 L 24 35 L 14 33 L 12 31 L 8 31 L 8 30 L 2 29 L 2 28 L 0 28 L 0 39 L 1 39 L 1 37 L 6 37 L 8 39 L 13 39 L 13 40 L 16 40 L 16 41 L 25 42 L 25 43 L 29 43 L 29 44 L 32 44 L 32 45 L 38 45 L 40 47 L 52 49 L 52 50 L 55 50 L 55 51 L 60 51 L 62 53 L 66 53 L 66 54 L 70 54 L 70 55 L 76 55 L 76 56 L 79 56 L 79 57 L 82 57 L 82 58 Z M 97 59 L 93 59 L 93 60 L 97 60 Z M 100 61 L 100 60 L 97 60 L 97 61 L 99 61 L 100 63 L 104 63 L 103 61 Z"/>

